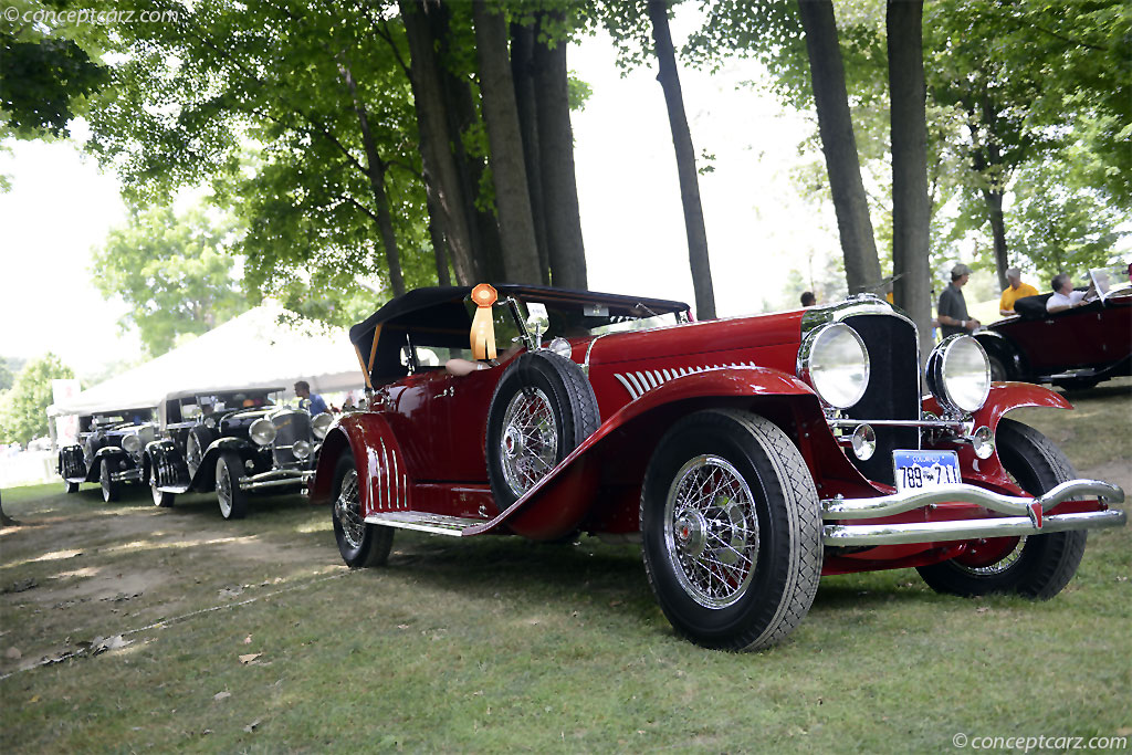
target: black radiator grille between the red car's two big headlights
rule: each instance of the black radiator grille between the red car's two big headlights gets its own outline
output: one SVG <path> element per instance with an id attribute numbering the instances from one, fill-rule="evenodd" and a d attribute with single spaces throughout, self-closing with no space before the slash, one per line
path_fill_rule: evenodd
<path id="1" fill-rule="evenodd" d="M 919 342 L 916 327 L 891 315 L 855 315 L 842 320 L 865 342 L 872 372 L 865 396 L 846 415 L 859 420 L 918 420 L 920 418 Z M 876 453 L 849 460 L 871 480 L 893 484 L 892 451 L 919 448 L 919 430 L 874 427 Z"/>

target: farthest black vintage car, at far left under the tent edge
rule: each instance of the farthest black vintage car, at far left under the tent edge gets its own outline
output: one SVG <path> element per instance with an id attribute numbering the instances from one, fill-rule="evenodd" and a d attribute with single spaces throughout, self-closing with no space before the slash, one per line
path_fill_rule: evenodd
<path id="1" fill-rule="evenodd" d="M 67 492 L 98 482 L 103 500 L 118 500 L 123 484 L 143 481 L 144 449 L 156 437 L 152 407 L 79 414 L 78 443 L 62 446 L 57 462 Z"/>

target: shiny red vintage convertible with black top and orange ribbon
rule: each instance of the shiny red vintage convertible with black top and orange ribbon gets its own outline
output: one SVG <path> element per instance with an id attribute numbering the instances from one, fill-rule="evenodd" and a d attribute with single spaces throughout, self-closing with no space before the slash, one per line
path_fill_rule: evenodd
<path id="1" fill-rule="evenodd" d="M 1125 523 L 1120 488 L 1003 419 L 1065 400 L 992 385 L 969 336 L 932 353 L 921 400 L 916 327 L 876 298 L 694 323 L 676 301 L 496 290 L 420 289 L 351 329 L 370 396 L 311 488 L 350 566 L 385 563 L 398 527 L 640 540 L 678 633 L 755 650 L 823 574 L 1050 598 L 1086 530 Z M 484 329 L 498 364 L 470 349 Z"/>

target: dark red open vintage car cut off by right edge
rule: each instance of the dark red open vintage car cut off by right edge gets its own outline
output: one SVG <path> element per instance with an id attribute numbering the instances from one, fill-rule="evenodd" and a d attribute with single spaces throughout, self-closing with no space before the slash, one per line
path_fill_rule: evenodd
<path id="1" fill-rule="evenodd" d="M 1123 266 L 1090 271 L 1098 297 L 1079 308 L 1050 315 L 1050 294 L 1014 303 L 1014 317 L 975 334 L 990 360 L 995 380 L 1053 383 L 1091 388 L 1132 375 L 1132 286 Z"/>

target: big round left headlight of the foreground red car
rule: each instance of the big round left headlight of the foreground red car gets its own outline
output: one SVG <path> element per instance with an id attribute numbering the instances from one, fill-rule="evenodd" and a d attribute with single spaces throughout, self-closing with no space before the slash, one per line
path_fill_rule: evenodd
<path id="1" fill-rule="evenodd" d="M 844 323 L 823 325 L 798 350 L 798 377 L 837 409 L 860 401 L 868 387 L 868 370 L 865 342 Z"/>

